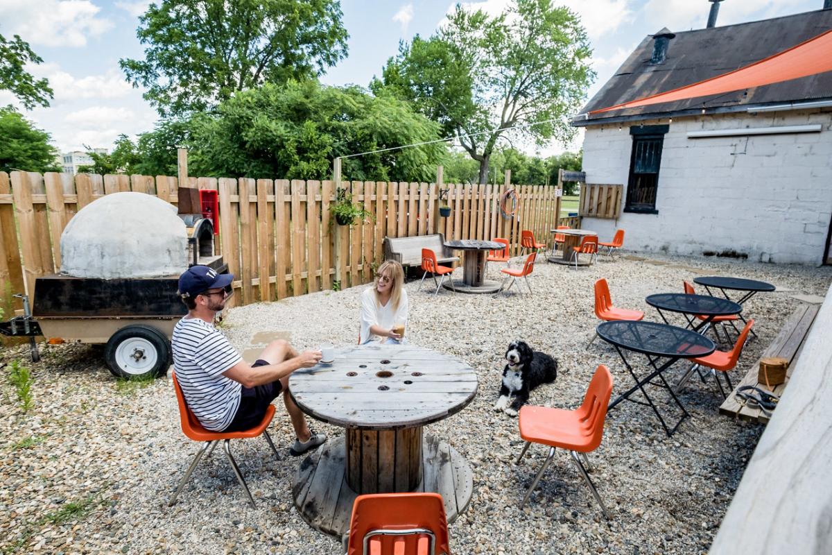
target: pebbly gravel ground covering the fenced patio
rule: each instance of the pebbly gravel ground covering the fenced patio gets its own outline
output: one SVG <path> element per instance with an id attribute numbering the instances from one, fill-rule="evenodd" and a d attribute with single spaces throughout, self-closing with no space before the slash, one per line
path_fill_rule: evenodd
<path id="1" fill-rule="evenodd" d="M 496 298 L 444 292 L 433 298 L 427 288 L 418 291 L 418 280 L 407 284 L 409 339 L 468 360 L 480 379 L 468 408 L 429 427 L 473 469 L 471 504 L 451 525 L 454 553 L 707 551 L 761 426 L 718 414 L 721 398 L 712 382 L 688 385 L 682 399 L 692 419 L 671 439 L 650 409 L 622 404 L 608 415 L 602 446 L 590 455 L 612 522 L 603 521 L 565 453 L 556 456 L 520 510 L 547 449 L 534 446 L 520 466 L 513 464 L 522 446 L 517 420 L 493 411 L 504 350 L 520 337 L 559 359 L 557 381 L 532 392 L 532 404 L 576 406 L 600 363 L 610 366 L 614 394 L 620 392 L 630 379 L 615 351 L 600 340 L 586 349 L 597 325 L 592 283 L 606 277 L 617 305 L 658 320 L 645 296 L 681 291 L 682 280 L 692 280 L 699 269 L 767 280 L 780 289 L 745 306 L 760 335 L 740 359 L 747 367 L 797 305 L 790 295 L 825 295 L 832 268 L 632 258 L 601 260 L 578 271 L 538 264 L 533 296 L 518 293 L 515 285 L 511 294 Z M 301 349 L 351 344 L 363 289 L 236 308 L 224 327 L 240 349 L 255 333 L 276 330 L 290 332 Z M 7 348 L 2 360 L 25 361 L 26 355 L 23 347 Z M 178 503 L 168 508 L 196 453 L 196 444 L 181 434 L 170 382 L 119 383 L 106 370 L 102 349 L 82 344 L 42 345 L 42 362 L 27 365 L 34 378 L 27 413 L 8 380 L 0 386 L 0 553 L 340 553 L 339 543 L 309 528 L 293 507 L 290 488 L 300 460 L 288 456 L 292 438 L 282 408 L 272 431 L 280 460 L 263 441 L 233 447 L 256 509 L 219 451 L 203 459 Z M 681 369 L 680 364 L 675 373 Z M 342 433 L 314 425 L 330 436 Z"/>

